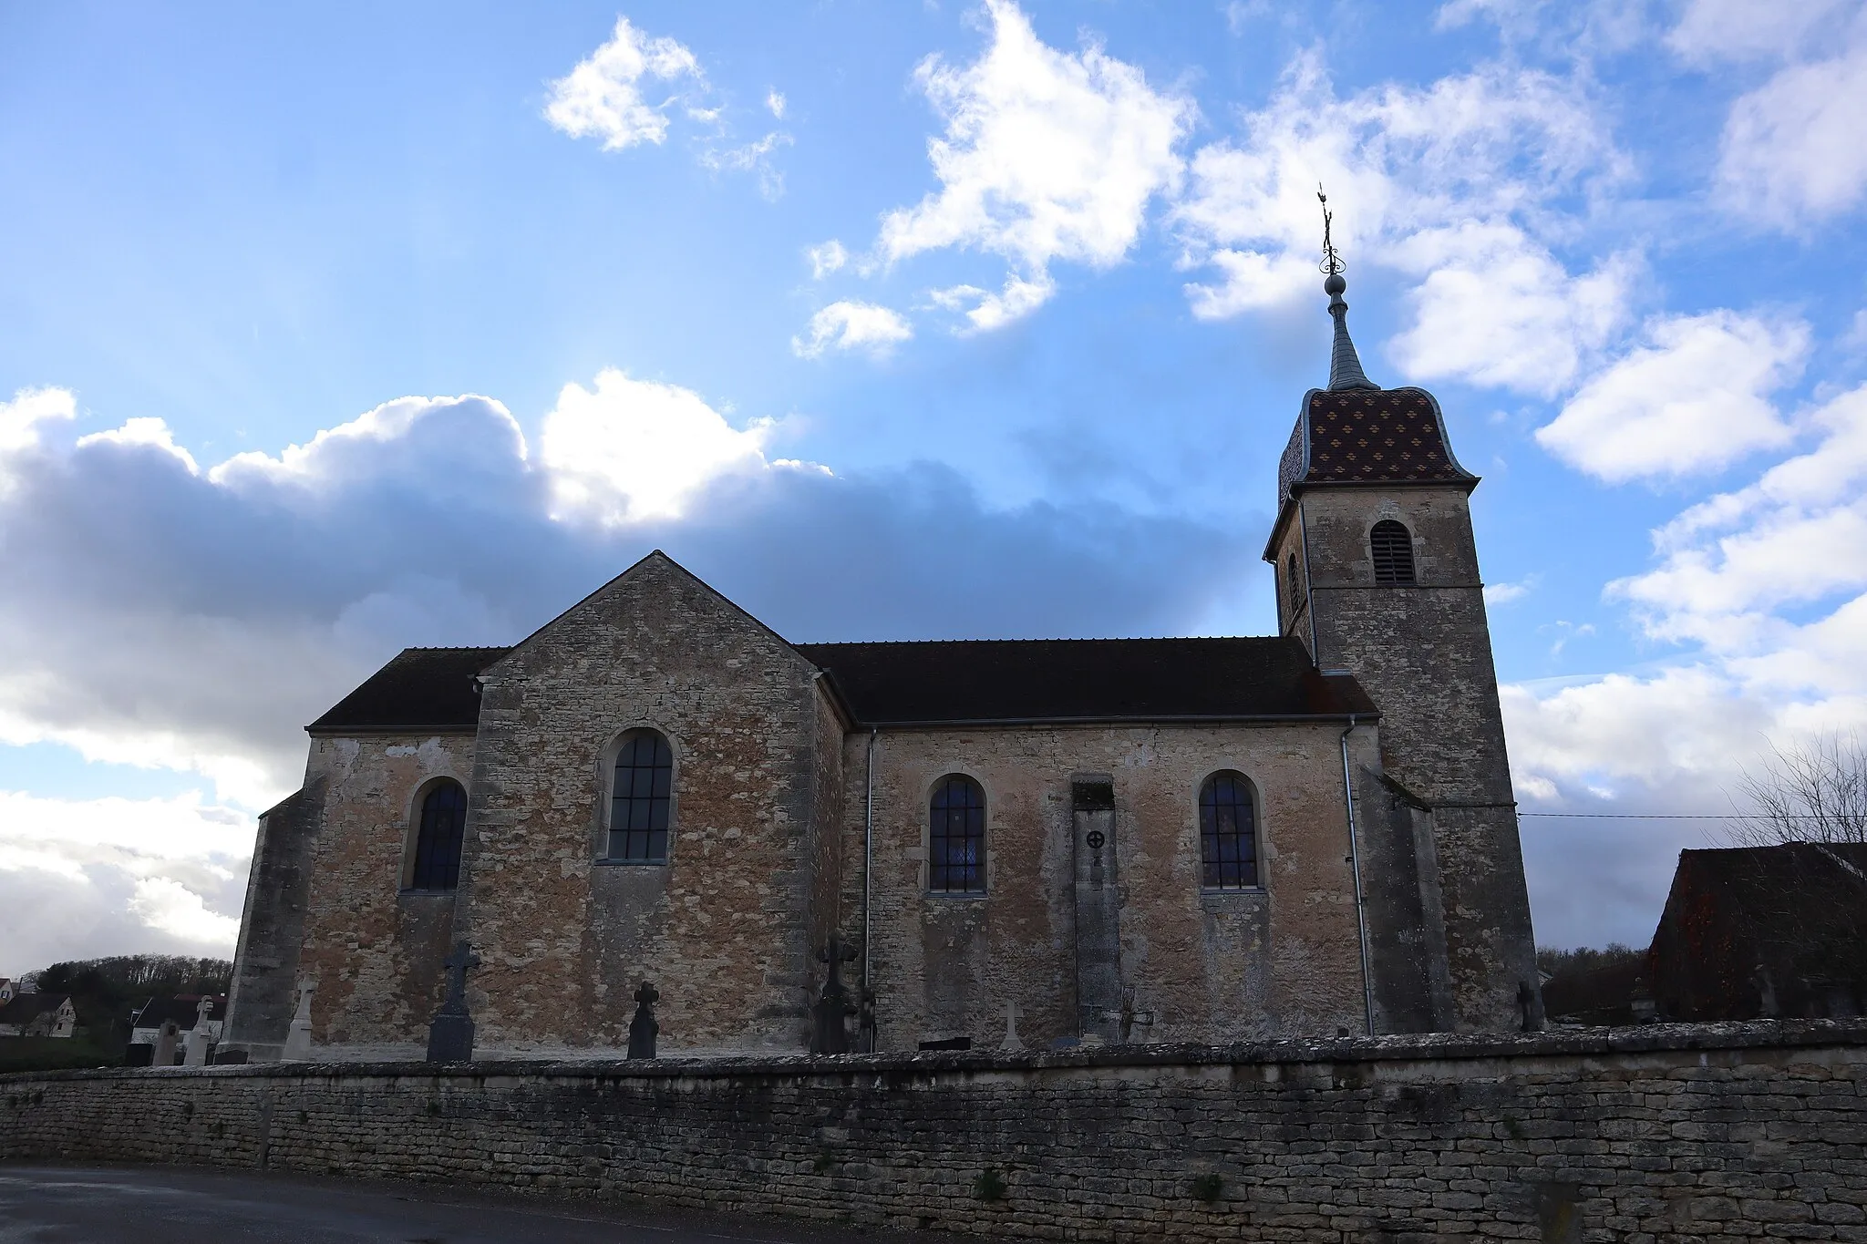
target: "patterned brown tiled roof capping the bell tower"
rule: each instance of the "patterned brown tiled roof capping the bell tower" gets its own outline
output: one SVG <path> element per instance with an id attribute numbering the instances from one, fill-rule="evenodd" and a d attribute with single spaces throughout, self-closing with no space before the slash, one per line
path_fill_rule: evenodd
<path id="1" fill-rule="evenodd" d="M 1445 438 L 1439 403 L 1423 388 L 1311 390 L 1277 470 L 1277 502 L 1294 485 L 1477 479 Z"/>

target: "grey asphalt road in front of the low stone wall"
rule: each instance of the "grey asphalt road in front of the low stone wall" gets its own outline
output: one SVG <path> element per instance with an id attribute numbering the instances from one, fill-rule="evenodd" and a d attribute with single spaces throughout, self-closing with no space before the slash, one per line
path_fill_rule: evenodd
<path id="1" fill-rule="evenodd" d="M 769 1218 L 181 1166 L 0 1164 L 0 1244 L 937 1244 Z M 976 1237 L 975 1237 L 976 1238 Z"/>

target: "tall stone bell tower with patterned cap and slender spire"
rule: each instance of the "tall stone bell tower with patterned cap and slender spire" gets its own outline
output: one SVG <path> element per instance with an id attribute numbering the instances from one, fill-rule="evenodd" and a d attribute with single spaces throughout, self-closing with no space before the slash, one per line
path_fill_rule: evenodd
<path id="1" fill-rule="evenodd" d="M 1324 207 L 1329 386 L 1309 390 L 1277 472 L 1279 630 L 1380 709 L 1389 795 L 1369 824 L 1369 919 L 1411 1026 L 1540 1026 L 1537 951 L 1492 666 L 1469 496 L 1445 416 L 1421 388 L 1380 388 L 1348 338 L 1342 261 Z M 1411 877 L 1408 877 L 1411 873 Z M 1385 890 L 1383 890 L 1385 888 Z M 1406 893 L 1400 893 L 1404 890 Z M 1417 892 L 1417 897 L 1415 897 Z M 1411 927 L 1417 921 L 1417 927 Z M 1382 925 L 1387 925 L 1385 929 Z M 1428 1020 L 1430 1015 L 1430 1020 Z M 1421 1022 L 1426 1020 L 1426 1022 Z"/>

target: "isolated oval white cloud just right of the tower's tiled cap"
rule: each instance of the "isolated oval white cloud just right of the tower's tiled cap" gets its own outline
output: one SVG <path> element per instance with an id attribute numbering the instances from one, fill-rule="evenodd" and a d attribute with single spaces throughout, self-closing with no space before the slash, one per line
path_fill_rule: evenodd
<path id="1" fill-rule="evenodd" d="M 1800 375 L 1807 325 L 1718 310 L 1654 319 L 1645 341 L 1583 384 L 1537 442 L 1615 483 L 1703 474 L 1789 442 L 1768 394 Z"/>

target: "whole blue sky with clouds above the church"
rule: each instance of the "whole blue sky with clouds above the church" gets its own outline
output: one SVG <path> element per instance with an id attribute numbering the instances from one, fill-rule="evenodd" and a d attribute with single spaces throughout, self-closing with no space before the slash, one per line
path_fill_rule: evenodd
<path id="1" fill-rule="evenodd" d="M 230 955 L 302 726 L 650 548 L 799 640 L 1268 634 L 1473 494 L 1538 942 L 1867 724 L 1861 0 L 0 0 L 0 974 Z M 1615 819 L 1604 817 L 1613 813 Z"/>

